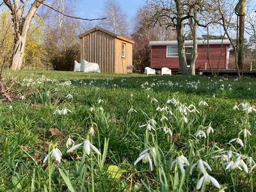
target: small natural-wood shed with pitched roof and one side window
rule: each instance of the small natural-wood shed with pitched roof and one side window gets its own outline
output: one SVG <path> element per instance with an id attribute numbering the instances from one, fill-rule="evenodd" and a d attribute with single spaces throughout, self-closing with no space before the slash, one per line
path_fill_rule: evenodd
<path id="1" fill-rule="evenodd" d="M 134 41 L 98 26 L 79 35 L 81 60 L 98 63 L 101 72 L 127 74 L 132 72 Z"/>

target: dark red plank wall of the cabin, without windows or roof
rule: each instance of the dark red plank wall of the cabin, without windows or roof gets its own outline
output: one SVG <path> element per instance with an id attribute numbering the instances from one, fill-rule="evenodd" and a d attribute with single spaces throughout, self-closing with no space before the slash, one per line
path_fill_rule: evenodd
<path id="1" fill-rule="evenodd" d="M 209 69 L 209 63 L 207 61 L 207 47 L 206 45 L 198 45 L 198 58 L 196 59 L 195 68 Z M 219 68 L 228 68 L 228 45 L 223 45 L 223 51 L 221 53 L 221 45 L 210 45 L 210 61 L 212 68 L 218 68 L 218 62 L 220 59 Z M 151 68 L 168 67 L 171 69 L 179 69 L 179 58 L 166 58 L 166 45 L 152 46 L 151 47 Z"/>

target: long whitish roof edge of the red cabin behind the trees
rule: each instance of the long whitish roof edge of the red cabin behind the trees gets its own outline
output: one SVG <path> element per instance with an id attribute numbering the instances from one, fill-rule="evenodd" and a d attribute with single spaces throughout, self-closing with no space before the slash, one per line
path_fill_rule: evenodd
<path id="1" fill-rule="evenodd" d="M 149 42 L 150 46 L 161 46 L 161 45 L 177 45 L 178 42 L 177 41 L 152 41 Z M 197 41 L 198 45 L 206 45 L 207 44 L 207 40 L 198 40 Z M 209 40 L 209 44 L 210 45 L 230 45 L 230 41 L 227 39 L 221 40 L 221 39 L 216 39 L 216 40 Z M 193 40 L 186 40 L 185 41 L 185 45 L 193 45 Z"/>

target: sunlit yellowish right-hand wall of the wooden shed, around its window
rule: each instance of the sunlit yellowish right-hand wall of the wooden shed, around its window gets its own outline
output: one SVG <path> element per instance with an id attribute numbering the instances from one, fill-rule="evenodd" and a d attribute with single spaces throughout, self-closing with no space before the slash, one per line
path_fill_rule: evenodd
<path id="1" fill-rule="evenodd" d="M 125 58 L 122 58 L 122 44 L 125 44 Z M 115 73 L 116 74 L 127 74 L 132 73 L 132 44 L 115 39 Z"/>

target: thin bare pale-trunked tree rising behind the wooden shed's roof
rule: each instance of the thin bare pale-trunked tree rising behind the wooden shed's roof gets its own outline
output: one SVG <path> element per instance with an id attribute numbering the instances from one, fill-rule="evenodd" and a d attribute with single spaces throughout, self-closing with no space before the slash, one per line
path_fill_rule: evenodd
<path id="1" fill-rule="evenodd" d="M 128 36 L 129 25 L 127 15 L 116 0 L 105 0 L 102 17 L 106 19 L 99 22 L 102 28 L 108 29 L 118 35 Z"/>

